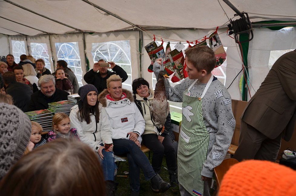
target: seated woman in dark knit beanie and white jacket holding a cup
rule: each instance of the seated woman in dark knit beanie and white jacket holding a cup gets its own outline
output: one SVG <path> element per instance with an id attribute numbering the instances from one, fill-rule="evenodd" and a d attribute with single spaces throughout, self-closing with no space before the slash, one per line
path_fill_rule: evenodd
<path id="1" fill-rule="evenodd" d="M 72 107 L 70 112 L 70 125 L 77 129 L 82 142 L 96 152 L 102 162 L 105 180 L 114 181 L 117 172 L 114 163 L 113 145 L 105 148 L 105 142 L 112 142 L 112 132 L 105 108 L 97 100 L 97 88 L 87 84 L 79 88 L 78 95 L 81 100 Z"/>

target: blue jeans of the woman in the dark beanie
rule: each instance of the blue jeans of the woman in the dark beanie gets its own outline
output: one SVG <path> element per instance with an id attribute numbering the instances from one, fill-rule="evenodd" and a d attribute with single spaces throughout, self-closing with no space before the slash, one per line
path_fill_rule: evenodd
<path id="1" fill-rule="evenodd" d="M 103 144 L 100 144 L 101 146 L 104 146 Z M 105 149 L 102 150 L 102 154 L 104 156 L 103 160 L 101 159 L 99 153 L 97 153 L 100 163 L 103 166 L 103 173 L 105 180 L 112 180 L 114 181 L 114 172 L 117 169 L 117 166 L 114 162 L 114 155 L 113 152 L 106 152 Z"/>

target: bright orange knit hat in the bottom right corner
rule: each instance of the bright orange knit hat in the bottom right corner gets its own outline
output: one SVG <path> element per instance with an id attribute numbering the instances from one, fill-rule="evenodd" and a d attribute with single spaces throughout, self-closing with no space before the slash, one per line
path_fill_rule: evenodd
<path id="1" fill-rule="evenodd" d="M 233 165 L 223 177 L 219 196 L 296 195 L 296 171 L 270 161 Z"/>

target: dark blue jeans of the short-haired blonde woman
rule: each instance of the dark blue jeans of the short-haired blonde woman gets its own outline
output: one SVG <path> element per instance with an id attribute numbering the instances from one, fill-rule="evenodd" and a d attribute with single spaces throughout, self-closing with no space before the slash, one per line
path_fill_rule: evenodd
<path id="1" fill-rule="evenodd" d="M 132 140 L 113 139 L 113 145 L 114 154 L 127 154 L 130 168 L 130 188 L 133 192 L 139 192 L 140 168 L 142 169 L 146 180 L 150 180 L 156 175 L 148 158 Z"/>

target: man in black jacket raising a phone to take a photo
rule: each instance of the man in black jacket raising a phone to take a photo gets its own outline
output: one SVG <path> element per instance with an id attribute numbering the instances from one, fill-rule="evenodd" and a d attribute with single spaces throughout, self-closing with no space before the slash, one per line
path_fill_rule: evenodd
<path id="1" fill-rule="evenodd" d="M 88 84 L 94 85 L 98 93 L 100 94 L 104 89 L 107 89 L 107 79 L 114 74 L 117 74 L 121 77 L 122 82 L 127 80 L 127 72 L 125 72 L 121 67 L 116 65 L 114 62 L 108 62 L 110 67 L 100 67 L 100 63 L 106 63 L 103 59 L 100 59 L 99 62 L 94 64 L 94 68 L 89 70 L 84 75 L 84 81 Z M 108 70 L 112 69 L 114 72 Z M 99 72 L 97 72 L 99 71 Z"/>

